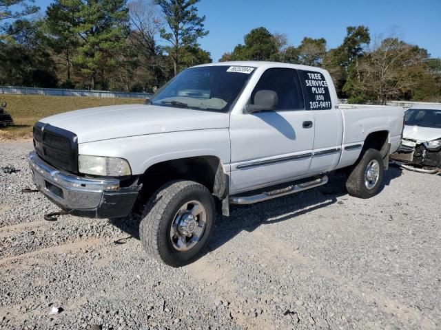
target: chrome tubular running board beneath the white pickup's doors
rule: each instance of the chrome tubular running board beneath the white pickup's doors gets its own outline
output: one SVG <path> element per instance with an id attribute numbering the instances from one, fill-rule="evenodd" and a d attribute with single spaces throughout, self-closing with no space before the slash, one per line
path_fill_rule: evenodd
<path id="1" fill-rule="evenodd" d="M 271 190 L 268 192 L 261 192 L 258 195 L 252 196 L 230 196 L 229 202 L 234 205 L 245 205 L 245 204 L 253 204 L 258 203 L 259 201 L 267 201 L 268 199 L 273 199 L 276 197 L 281 197 L 289 194 L 294 194 L 296 192 L 300 192 L 303 190 L 308 190 L 311 188 L 316 188 L 318 186 L 323 186 L 327 184 L 329 181 L 327 175 L 323 175 L 318 179 L 313 181 L 303 182 L 301 184 L 293 184 L 291 186 L 287 186 L 285 188 L 280 188 L 276 190 Z"/>

